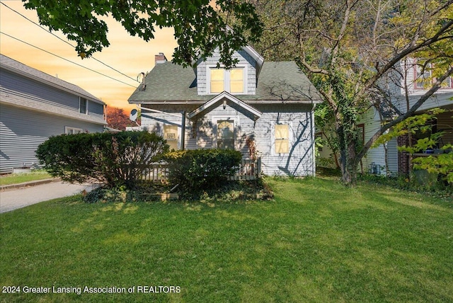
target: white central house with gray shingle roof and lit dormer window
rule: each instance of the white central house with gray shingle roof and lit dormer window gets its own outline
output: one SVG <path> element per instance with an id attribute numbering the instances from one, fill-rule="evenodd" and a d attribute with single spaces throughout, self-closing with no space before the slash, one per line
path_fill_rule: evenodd
<path id="1" fill-rule="evenodd" d="M 319 92 L 295 62 L 264 62 L 252 47 L 234 57 L 239 63 L 231 69 L 217 67 L 218 52 L 190 69 L 156 55 L 154 69 L 129 98 L 141 105 L 142 128 L 163 135 L 174 149 L 230 148 L 243 159 L 253 141 L 263 173 L 313 176 Z"/>

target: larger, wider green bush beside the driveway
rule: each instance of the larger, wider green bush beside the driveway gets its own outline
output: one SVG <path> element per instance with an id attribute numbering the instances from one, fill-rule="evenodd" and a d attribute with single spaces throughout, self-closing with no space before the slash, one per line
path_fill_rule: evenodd
<path id="1" fill-rule="evenodd" d="M 36 156 L 63 181 L 134 188 L 144 168 L 166 151 L 165 140 L 155 133 L 103 132 L 50 137 L 40 144 Z"/>

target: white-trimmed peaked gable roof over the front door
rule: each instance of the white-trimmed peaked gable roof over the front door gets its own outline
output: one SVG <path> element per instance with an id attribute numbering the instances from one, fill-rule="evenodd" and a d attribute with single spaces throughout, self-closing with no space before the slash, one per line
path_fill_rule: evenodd
<path id="1" fill-rule="evenodd" d="M 235 96 L 231 95 L 231 93 L 223 91 L 222 93 L 219 93 L 217 96 L 212 98 L 210 101 L 207 101 L 198 108 L 195 108 L 195 110 L 189 113 L 189 118 L 190 120 L 196 120 L 200 116 L 209 113 L 214 108 L 219 107 L 220 105 L 222 105 L 222 103 L 224 105 L 230 105 L 235 108 L 238 108 L 238 110 L 245 112 L 245 114 L 251 115 L 253 117 L 253 120 L 258 120 L 258 118 L 260 118 L 261 115 L 263 115 L 263 113 L 261 113 L 253 106 L 248 105 L 247 103 L 239 100 Z"/>

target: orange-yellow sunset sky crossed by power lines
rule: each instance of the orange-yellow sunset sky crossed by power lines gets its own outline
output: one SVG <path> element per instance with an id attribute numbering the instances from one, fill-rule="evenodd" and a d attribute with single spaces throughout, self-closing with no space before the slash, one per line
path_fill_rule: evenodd
<path id="1" fill-rule="evenodd" d="M 117 23 L 113 18 L 108 18 L 110 46 L 93 55 L 99 62 L 92 58 L 82 60 L 77 56 L 73 47 L 49 33 L 47 28 L 43 27 L 45 29 L 42 29 L 28 21 L 27 18 L 38 23 L 38 16 L 35 11 L 25 10 L 21 1 L 1 1 L 0 53 L 2 55 L 52 76 L 58 75 L 59 79 L 76 84 L 94 96 L 101 98 L 108 106 L 124 108 L 126 112 L 135 108 L 135 105 L 127 103 L 127 98 L 139 85 L 139 82 L 135 81 L 137 75 L 141 72 L 149 72 L 154 67 L 154 55 L 159 52 L 164 52 L 167 59 L 171 59 L 173 49 L 176 47 L 171 28 L 158 29 L 154 40 L 144 42 L 141 38 L 131 37 L 120 23 Z M 61 33 L 54 34 L 67 41 L 67 38 Z M 75 45 L 73 41 L 69 41 L 69 43 Z M 38 50 L 31 45 L 64 59 Z M 79 67 L 65 59 L 106 76 Z M 132 79 L 115 72 L 104 64 Z M 110 79 L 108 76 L 119 81 Z"/>

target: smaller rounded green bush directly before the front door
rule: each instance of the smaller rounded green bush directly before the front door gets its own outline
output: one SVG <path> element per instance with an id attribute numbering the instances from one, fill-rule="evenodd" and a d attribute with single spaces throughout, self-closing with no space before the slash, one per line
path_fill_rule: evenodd
<path id="1" fill-rule="evenodd" d="M 185 190 L 218 188 L 233 176 L 241 164 L 240 151 L 231 149 L 193 149 L 164 155 L 169 181 Z"/>

